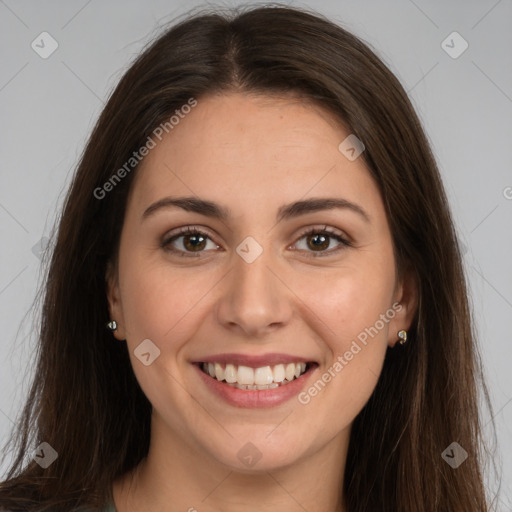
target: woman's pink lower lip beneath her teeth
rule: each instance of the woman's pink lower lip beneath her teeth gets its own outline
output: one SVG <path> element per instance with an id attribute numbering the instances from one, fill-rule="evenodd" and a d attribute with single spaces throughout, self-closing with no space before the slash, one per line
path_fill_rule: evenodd
<path id="1" fill-rule="evenodd" d="M 213 391 L 217 396 L 223 398 L 230 405 L 235 407 L 242 407 L 245 409 L 256 409 L 263 407 L 275 407 L 280 405 L 287 400 L 290 400 L 294 396 L 298 395 L 300 391 L 305 387 L 306 382 L 309 380 L 311 375 L 315 373 L 318 365 L 312 365 L 305 373 L 303 373 L 297 379 L 292 380 L 289 384 L 284 384 L 274 389 L 264 390 L 244 390 L 229 386 L 225 382 L 220 382 L 213 377 L 210 377 L 201 370 L 199 364 L 194 364 L 199 376 L 208 388 Z"/>

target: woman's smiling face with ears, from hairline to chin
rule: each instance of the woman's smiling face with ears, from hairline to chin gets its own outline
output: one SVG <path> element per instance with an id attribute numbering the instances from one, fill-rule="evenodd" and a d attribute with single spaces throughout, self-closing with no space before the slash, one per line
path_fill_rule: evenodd
<path id="1" fill-rule="evenodd" d="M 155 139 L 109 303 L 161 450 L 270 470 L 346 446 L 413 316 L 349 135 L 304 102 L 227 94 Z"/>

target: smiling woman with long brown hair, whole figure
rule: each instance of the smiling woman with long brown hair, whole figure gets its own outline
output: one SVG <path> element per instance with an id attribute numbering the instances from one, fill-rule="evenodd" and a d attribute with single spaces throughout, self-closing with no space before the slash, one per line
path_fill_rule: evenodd
<path id="1" fill-rule="evenodd" d="M 83 154 L 0 505 L 487 511 L 477 355 L 387 67 L 304 10 L 189 16 Z"/>

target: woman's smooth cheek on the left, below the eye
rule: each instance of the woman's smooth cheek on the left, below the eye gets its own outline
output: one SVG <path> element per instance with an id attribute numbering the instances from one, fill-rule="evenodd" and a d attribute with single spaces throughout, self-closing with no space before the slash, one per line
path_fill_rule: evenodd
<path id="1" fill-rule="evenodd" d="M 200 324 L 201 299 L 216 281 L 197 270 L 171 269 L 165 263 L 136 259 L 126 261 L 122 270 L 123 314 L 133 370 L 152 403 L 162 404 L 162 410 L 178 410 L 174 400 L 181 388 L 175 376 L 179 373 L 181 349 Z M 137 353 L 142 353 L 137 349 L 146 339 L 159 350 L 149 366 L 137 358 Z"/>

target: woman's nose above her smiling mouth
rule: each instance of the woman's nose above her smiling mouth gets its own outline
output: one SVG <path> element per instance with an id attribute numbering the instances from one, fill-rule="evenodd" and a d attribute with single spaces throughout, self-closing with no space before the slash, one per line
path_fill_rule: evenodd
<path id="1" fill-rule="evenodd" d="M 269 250 L 252 263 L 233 254 L 231 271 L 223 280 L 217 320 L 235 334 L 262 338 L 287 325 L 293 313 L 292 291 Z"/>

